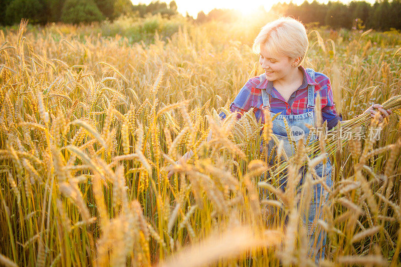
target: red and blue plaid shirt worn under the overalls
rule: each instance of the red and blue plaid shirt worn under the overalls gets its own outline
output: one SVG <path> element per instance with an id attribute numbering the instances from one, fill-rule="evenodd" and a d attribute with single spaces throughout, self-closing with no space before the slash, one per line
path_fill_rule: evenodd
<path id="1" fill-rule="evenodd" d="M 338 121 L 342 121 L 341 114 L 337 115 L 335 104 L 333 100 L 333 91 L 331 90 L 330 79 L 320 72 L 315 72 L 315 80 L 313 81 L 306 70 L 300 66 L 304 76 L 302 85 L 290 96 L 288 102 L 281 96 L 281 94 L 273 87 L 273 82 L 268 81 L 265 76 L 255 76 L 248 80 L 248 82 L 241 88 L 237 97 L 230 105 L 231 112 L 239 112 L 238 118 L 241 118 L 244 112 L 248 111 L 251 107 L 255 107 L 254 113 L 256 119 L 265 122 L 263 115 L 263 101 L 261 89 L 266 88 L 270 94 L 270 111 L 283 115 L 302 114 L 308 111 L 308 84 L 315 86 L 315 98 L 320 94 L 322 119 L 327 121 L 327 128 L 331 129 L 337 125 Z M 261 80 L 262 79 L 262 80 Z M 221 112 L 220 117 L 226 118 L 226 114 Z"/>

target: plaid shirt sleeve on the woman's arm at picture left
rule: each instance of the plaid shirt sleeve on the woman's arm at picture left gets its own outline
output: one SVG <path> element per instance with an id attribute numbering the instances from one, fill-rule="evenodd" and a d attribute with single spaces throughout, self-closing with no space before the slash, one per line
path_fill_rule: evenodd
<path id="1" fill-rule="evenodd" d="M 241 118 L 241 116 L 247 112 L 253 103 L 253 95 L 251 94 L 252 90 L 252 82 L 251 79 L 241 88 L 240 92 L 236 96 L 233 102 L 230 104 L 231 112 L 238 112 L 237 118 Z M 225 119 L 226 114 L 222 111 L 219 114 L 220 118 Z"/>

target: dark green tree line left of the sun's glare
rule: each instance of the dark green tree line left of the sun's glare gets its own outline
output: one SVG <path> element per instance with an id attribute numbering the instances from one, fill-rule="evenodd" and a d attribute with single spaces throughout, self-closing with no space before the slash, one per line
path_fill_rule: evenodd
<path id="1" fill-rule="evenodd" d="M 169 18 L 177 14 L 177 5 L 153 1 L 133 5 L 130 0 L 0 0 L 0 25 L 19 24 L 22 18 L 33 24 L 50 22 L 89 23 L 114 20 L 121 15 L 144 17 L 157 14 Z"/>

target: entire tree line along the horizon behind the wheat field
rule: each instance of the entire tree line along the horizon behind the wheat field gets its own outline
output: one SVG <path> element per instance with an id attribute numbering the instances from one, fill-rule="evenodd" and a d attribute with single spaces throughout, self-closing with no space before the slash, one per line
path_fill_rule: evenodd
<path id="1" fill-rule="evenodd" d="M 130 0 L 0 0 L 0 25 L 18 24 L 22 18 L 28 18 L 30 23 L 77 24 L 106 18 L 114 20 L 121 15 L 144 17 L 157 13 L 166 18 L 176 15 L 175 1 L 168 5 L 160 1 L 133 5 Z M 349 4 L 329 1 L 321 4 L 314 0 L 311 3 L 304 1 L 299 6 L 292 2 L 278 3 L 264 14 L 267 17 L 272 14 L 291 16 L 305 24 L 317 23 L 333 29 L 366 27 L 382 31 L 391 28 L 401 30 L 401 0 L 380 0 L 373 5 L 365 1 L 352 1 Z M 235 22 L 239 16 L 241 13 L 236 10 L 214 9 L 207 15 L 199 12 L 195 21 Z"/>

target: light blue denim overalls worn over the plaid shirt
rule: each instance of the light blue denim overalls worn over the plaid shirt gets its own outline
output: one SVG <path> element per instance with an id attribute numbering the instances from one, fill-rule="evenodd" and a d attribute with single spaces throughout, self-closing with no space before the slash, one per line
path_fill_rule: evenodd
<path id="1" fill-rule="evenodd" d="M 315 72 L 312 69 L 306 69 L 309 76 L 311 76 L 312 80 L 315 79 Z M 288 126 L 292 130 L 292 136 L 296 136 L 297 132 L 304 132 L 304 144 L 306 143 L 307 136 L 309 134 L 309 128 L 306 127 L 306 124 L 315 125 L 314 121 L 314 109 L 315 109 L 315 91 L 314 85 L 308 85 L 308 102 L 307 108 L 308 111 L 298 115 L 278 115 L 273 121 L 273 134 L 275 134 L 278 140 L 282 140 L 284 143 L 284 151 L 287 156 L 290 157 L 294 154 L 293 146 L 288 140 L 287 131 L 284 124 L 284 118 L 287 120 Z M 266 92 L 266 89 L 262 89 L 262 99 L 263 99 L 263 109 L 270 110 L 270 101 L 269 95 Z M 270 113 L 273 118 L 276 114 Z M 294 135 L 295 132 L 295 135 Z M 312 137 L 312 136 L 311 136 Z M 302 137 L 300 137 L 302 138 Z M 296 138 L 295 138 L 296 139 Z M 293 138 L 294 140 L 294 138 Z M 312 140 L 312 139 L 311 139 Z M 270 152 L 272 151 L 275 142 L 271 139 L 268 144 L 268 155 L 270 156 Z M 276 153 L 274 153 L 276 154 Z M 273 155 L 272 160 L 270 162 L 273 165 Z M 324 165 L 324 166 L 323 166 Z M 331 163 L 330 159 L 327 158 L 326 164 L 323 162 L 319 163 L 315 166 L 315 170 L 318 176 L 322 177 L 322 175 L 326 176 L 326 185 L 330 188 L 332 185 L 331 180 Z M 303 183 L 303 177 L 305 171 L 303 168 L 300 169 L 300 173 L 302 173 L 302 178 L 300 184 Z M 291 179 L 291 177 L 289 177 Z M 286 181 L 280 181 L 280 188 L 284 191 L 286 187 Z M 307 225 L 307 234 L 309 236 L 309 254 L 316 255 L 315 261 L 317 262 L 320 259 L 324 258 L 324 246 L 326 244 L 326 232 L 324 232 L 321 227 L 316 228 L 317 221 L 322 217 L 322 207 L 323 204 L 327 201 L 327 191 L 324 190 L 323 186 L 320 183 L 317 183 L 313 186 L 313 196 L 312 201 L 310 203 L 308 218 L 303 218 L 303 222 Z M 318 213 L 318 214 L 317 214 Z M 316 240 L 315 240 L 316 239 Z M 320 247 L 322 247 L 320 249 Z"/>

